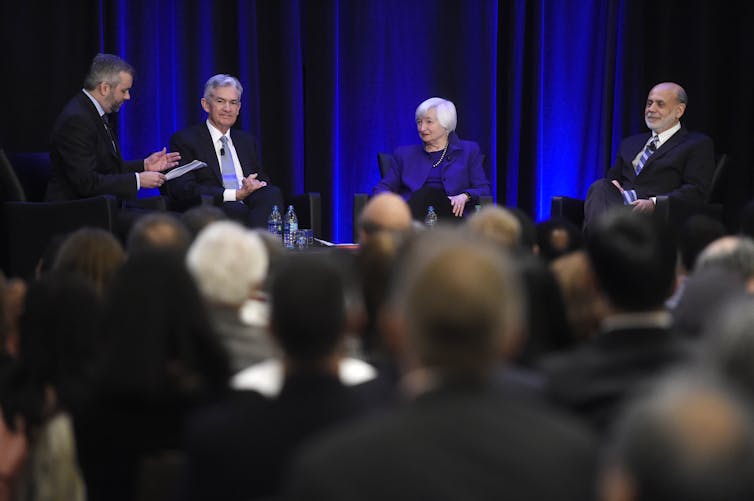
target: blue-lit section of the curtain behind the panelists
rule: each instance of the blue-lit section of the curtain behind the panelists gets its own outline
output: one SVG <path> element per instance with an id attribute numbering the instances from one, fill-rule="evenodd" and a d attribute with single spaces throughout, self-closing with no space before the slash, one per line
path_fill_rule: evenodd
<path id="1" fill-rule="evenodd" d="M 119 114 L 124 156 L 143 158 L 203 119 L 203 83 L 225 72 L 244 85 L 240 125 L 265 146 L 273 178 L 291 194 L 322 190 L 334 241 L 351 239 L 353 193 L 379 181 L 376 154 L 419 142 L 413 113 L 433 96 L 456 104 L 458 133 L 480 144 L 499 203 L 540 220 L 551 196 L 583 197 L 623 135 L 621 102 L 638 79 L 624 82 L 624 2 L 436 3 L 323 0 L 325 29 L 300 0 L 236 1 L 222 15 L 211 0 L 99 0 L 101 50 L 137 70 Z M 305 29 L 329 53 L 307 47 Z M 304 96 L 330 116 L 304 116 Z M 307 155 L 305 131 L 329 158 Z"/>

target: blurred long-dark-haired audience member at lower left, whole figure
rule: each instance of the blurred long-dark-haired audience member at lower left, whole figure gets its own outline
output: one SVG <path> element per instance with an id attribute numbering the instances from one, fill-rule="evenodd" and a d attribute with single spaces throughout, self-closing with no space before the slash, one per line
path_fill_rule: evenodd
<path id="1" fill-rule="evenodd" d="M 71 415 L 91 383 L 100 309 L 94 287 L 78 275 L 52 272 L 29 287 L 19 361 L 0 391 L 7 422 L 22 417 L 29 437 L 17 499 L 86 499 Z"/>

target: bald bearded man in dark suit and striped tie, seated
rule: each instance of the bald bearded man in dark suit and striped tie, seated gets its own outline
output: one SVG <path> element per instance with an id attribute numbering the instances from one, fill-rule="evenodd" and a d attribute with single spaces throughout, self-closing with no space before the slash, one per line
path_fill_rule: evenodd
<path id="1" fill-rule="evenodd" d="M 584 205 L 587 229 L 615 205 L 654 212 L 658 195 L 689 202 L 707 200 L 715 168 L 714 147 L 711 138 L 681 125 L 687 102 L 686 91 L 676 83 L 652 87 L 644 107 L 651 134 L 624 139 L 605 178 L 590 186 Z"/>

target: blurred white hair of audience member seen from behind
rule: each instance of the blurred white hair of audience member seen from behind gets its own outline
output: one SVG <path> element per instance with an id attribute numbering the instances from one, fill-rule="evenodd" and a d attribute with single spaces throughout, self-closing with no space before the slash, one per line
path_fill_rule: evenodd
<path id="1" fill-rule="evenodd" d="M 186 265 L 206 299 L 240 306 L 264 281 L 269 258 L 253 231 L 233 221 L 217 221 L 199 232 Z"/>

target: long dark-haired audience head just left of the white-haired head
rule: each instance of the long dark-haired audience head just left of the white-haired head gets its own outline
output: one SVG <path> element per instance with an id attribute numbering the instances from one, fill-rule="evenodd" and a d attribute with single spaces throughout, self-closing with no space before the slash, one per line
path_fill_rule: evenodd
<path id="1" fill-rule="evenodd" d="M 106 398 L 201 398 L 225 389 L 228 356 L 182 260 L 160 251 L 129 258 L 108 295 L 97 383 Z M 169 398 L 167 398 L 169 397 Z"/>

